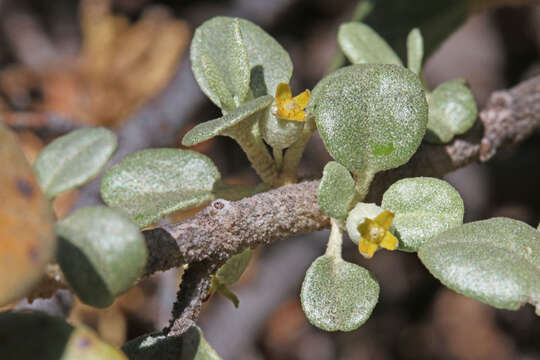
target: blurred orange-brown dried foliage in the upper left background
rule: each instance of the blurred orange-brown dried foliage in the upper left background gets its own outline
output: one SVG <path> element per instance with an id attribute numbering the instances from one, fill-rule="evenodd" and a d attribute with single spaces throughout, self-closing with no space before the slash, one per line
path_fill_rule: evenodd
<path id="1" fill-rule="evenodd" d="M 16 106 L 25 116 L 41 111 L 92 126 L 118 126 L 170 81 L 189 41 L 189 29 L 163 7 L 149 7 L 140 20 L 113 15 L 110 0 L 80 3 L 82 49 L 75 59 L 43 69 L 24 66 L 0 73 L 9 102 L 39 93 Z M 33 90 L 32 90 L 33 89 Z M 0 111 L 16 116 L 11 106 Z"/>

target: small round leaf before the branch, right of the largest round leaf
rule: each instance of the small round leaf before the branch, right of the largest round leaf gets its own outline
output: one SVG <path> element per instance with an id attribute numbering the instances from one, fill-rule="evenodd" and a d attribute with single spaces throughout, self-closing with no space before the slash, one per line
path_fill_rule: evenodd
<path id="1" fill-rule="evenodd" d="M 463 79 L 439 85 L 428 98 L 428 141 L 447 143 L 454 135 L 469 130 L 476 121 L 476 102 Z"/>

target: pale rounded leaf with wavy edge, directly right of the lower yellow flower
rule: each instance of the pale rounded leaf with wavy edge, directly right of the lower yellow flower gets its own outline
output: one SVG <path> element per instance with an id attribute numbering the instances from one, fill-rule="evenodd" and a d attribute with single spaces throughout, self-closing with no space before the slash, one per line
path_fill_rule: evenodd
<path id="1" fill-rule="evenodd" d="M 452 185 L 427 177 L 394 183 L 384 193 L 381 206 L 396 215 L 390 231 L 405 251 L 418 251 L 426 241 L 461 225 L 465 213 L 463 199 Z"/>

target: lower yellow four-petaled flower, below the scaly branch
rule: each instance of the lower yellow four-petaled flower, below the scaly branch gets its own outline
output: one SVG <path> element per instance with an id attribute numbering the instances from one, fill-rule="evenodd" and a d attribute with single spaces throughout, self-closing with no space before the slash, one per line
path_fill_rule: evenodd
<path id="1" fill-rule="evenodd" d="M 358 242 L 360 254 L 369 259 L 379 246 L 388 250 L 397 248 L 397 238 L 388 231 L 393 220 L 394 214 L 385 210 L 375 219 L 366 218 L 363 223 L 358 225 L 358 231 L 362 234 Z"/>

